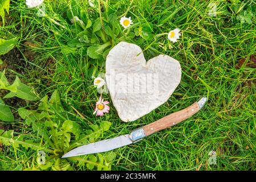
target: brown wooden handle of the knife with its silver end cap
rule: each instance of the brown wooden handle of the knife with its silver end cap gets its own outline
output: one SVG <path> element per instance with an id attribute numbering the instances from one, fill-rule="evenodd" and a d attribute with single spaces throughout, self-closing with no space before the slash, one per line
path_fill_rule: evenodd
<path id="1" fill-rule="evenodd" d="M 195 102 L 189 107 L 186 107 L 186 109 L 169 114 L 164 118 L 161 118 L 153 123 L 143 126 L 145 136 L 151 135 L 160 130 L 164 130 L 167 127 L 177 125 L 177 123 L 180 123 L 185 119 L 192 117 L 192 115 L 196 114 L 204 106 L 205 102 L 206 97 L 202 97 L 201 100 Z"/>

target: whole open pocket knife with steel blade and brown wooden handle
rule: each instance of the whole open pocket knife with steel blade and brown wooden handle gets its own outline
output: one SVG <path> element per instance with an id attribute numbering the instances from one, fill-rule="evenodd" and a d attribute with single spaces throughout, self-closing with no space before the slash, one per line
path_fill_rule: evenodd
<path id="1" fill-rule="evenodd" d="M 194 104 L 192 104 L 189 107 L 186 107 L 186 109 L 177 111 L 176 113 L 169 114 L 166 117 L 161 118 L 143 127 L 139 127 L 138 129 L 131 131 L 130 134 L 121 135 L 119 137 L 105 139 L 99 142 L 94 142 L 77 147 L 64 154 L 62 158 L 107 152 L 115 148 L 127 146 L 128 144 L 138 142 L 139 140 L 143 139 L 144 137 L 147 137 L 148 135 L 166 129 L 167 127 L 174 126 L 177 123 L 180 123 L 185 119 L 190 118 L 192 115 L 196 114 L 200 109 L 202 109 L 206 101 L 207 98 L 202 97 L 199 101 L 194 102 Z"/>

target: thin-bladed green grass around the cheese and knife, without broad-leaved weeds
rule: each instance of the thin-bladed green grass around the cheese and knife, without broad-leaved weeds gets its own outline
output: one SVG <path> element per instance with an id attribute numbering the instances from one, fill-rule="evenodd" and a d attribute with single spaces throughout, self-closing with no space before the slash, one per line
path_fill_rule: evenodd
<path id="1" fill-rule="evenodd" d="M 106 1 L 102 2 L 105 19 Z M 210 17 L 208 5 L 211 2 L 216 1 L 108 1 L 107 9 L 119 18 L 125 13 L 132 16 L 131 31 L 152 24 L 155 35 L 152 41 L 139 37 L 130 39 L 124 31 L 114 44 L 121 40 L 135 43 L 143 49 L 147 60 L 159 54 L 172 56 L 180 61 L 182 68 L 182 81 L 169 100 L 131 123 L 121 122 L 112 103 L 109 114 L 103 117 L 92 114 L 99 94 L 88 68 L 96 67 L 97 76 L 104 73 L 105 67 L 100 61 L 79 53 L 62 53 L 67 41 L 72 39 L 71 30 L 60 30 L 49 19 L 38 17 L 35 10 L 27 9 L 23 1 L 12 3 L 9 24 L 0 30 L 6 37 L 19 36 L 21 52 L 29 49 L 23 46 L 26 41 L 38 44 L 37 48 L 32 48 L 36 52 L 34 60 L 25 59 L 27 67 L 32 69 L 25 68 L 27 74 L 19 76 L 31 83 L 40 96 L 59 90 L 67 114 L 83 130 L 87 130 L 91 123 L 112 122 L 109 131 L 100 139 L 127 134 L 132 129 L 184 109 L 200 96 L 208 97 L 204 109 L 192 118 L 115 150 L 117 157 L 112 162 L 113 170 L 254 170 L 256 69 L 245 65 L 235 69 L 235 64 L 241 57 L 256 54 L 255 16 L 252 24 L 241 24 L 235 13 L 229 10 L 231 4 L 218 1 L 217 16 Z M 253 3 L 245 1 L 245 5 Z M 48 16 L 66 16 L 68 1 L 46 1 L 45 4 Z M 85 11 L 90 9 L 86 1 L 78 6 Z M 99 17 L 97 9 L 91 11 Z M 166 35 L 159 35 L 174 28 L 181 30 L 178 43 L 171 43 Z M 109 94 L 103 96 L 110 100 Z M 71 106 L 85 118 L 80 118 Z M 22 126 L 22 133 L 27 129 L 21 123 L 17 121 L 13 125 Z M 31 139 L 36 139 L 36 134 L 31 135 Z M 208 164 L 208 153 L 212 150 L 217 153 L 216 165 Z M 5 147 L 0 153 L 0 169 L 27 168 L 35 156 L 32 150 Z"/>

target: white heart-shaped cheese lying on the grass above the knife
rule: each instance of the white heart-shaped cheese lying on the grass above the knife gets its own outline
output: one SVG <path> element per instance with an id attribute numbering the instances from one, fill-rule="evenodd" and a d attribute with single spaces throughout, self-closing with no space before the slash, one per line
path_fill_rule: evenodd
<path id="1" fill-rule="evenodd" d="M 167 55 L 146 62 L 139 46 L 120 42 L 107 56 L 105 78 L 120 119 L 135 121 L 168 100 L 180 84 L 181 67 Z"/>

